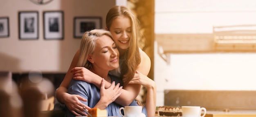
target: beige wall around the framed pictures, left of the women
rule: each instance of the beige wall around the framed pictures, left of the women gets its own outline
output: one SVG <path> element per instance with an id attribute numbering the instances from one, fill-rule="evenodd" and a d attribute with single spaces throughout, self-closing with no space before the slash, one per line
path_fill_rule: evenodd
<path id="1" fill-rule="evenodd" d="M 1 0 L 0 17 L 9 17 L 10 36 L 0 38 L 0 71 L 21 73 L 39 69 L 65 73 L 80 46 L 80 39 L 73 38 L 74 17 L 100 16 L 105 28 L 106 14 L 114 5 L 115 0 L 53 0 L 46 5 L 33 4 L 30 0 Z M 19 11 L 38 11 L 38 40 L 19 40 Z M 43 39 L 43 11 L 64 12 L 63 40 Z"/>

